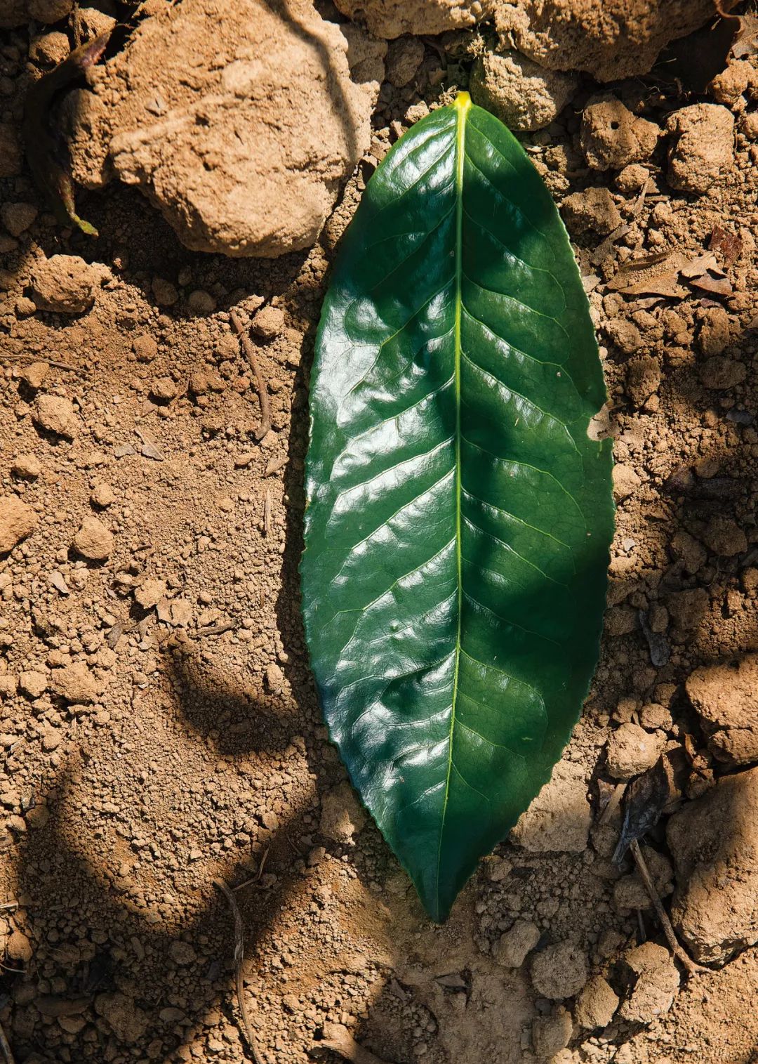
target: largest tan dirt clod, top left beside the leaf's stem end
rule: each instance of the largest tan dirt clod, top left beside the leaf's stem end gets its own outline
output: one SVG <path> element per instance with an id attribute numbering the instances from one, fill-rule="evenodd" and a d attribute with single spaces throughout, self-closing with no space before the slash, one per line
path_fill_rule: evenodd
<path id="1" fill-rule="evenodd" d="M 167 6 L 72 94 L 74 178 L 136 185 L 197 251 L 309 247 L 368 148 L 385 52 L 304 0 Z"/>

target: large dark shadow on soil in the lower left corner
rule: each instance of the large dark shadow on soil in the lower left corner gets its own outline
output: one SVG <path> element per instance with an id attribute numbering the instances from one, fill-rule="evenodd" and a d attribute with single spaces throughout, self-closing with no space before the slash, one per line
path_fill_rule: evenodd
<path id="1" fill-rule="evenodd" d="M 57 1052 L 66 1043 L 54 1021 L 41 1018 L 31 1031 L 22 1021 L 18 1033 L 19 1011 L 28 1025 L 33 1009 L 28 1004 L 30 996 L 36 998 L 35 988 L 49 985 L 57 990 L 56 1002 L 84 999 L 77 1015 L 117 1017 L 111 1029 L 98 1025 L 97 1044 L 87 1047 L 88 1059 L 112 1059 L 114 1052 L 128 1051 L 146 1035 L 151 1036 L 148 1041 L 158 1040 L 161 1060 L 173 1059 L 175 1049 L 199 1033 L 212 1010 L 236 1014 L 229 976 L 233 933 L 226 902 L 208 881 L 199 895 L 186 899 L 187 918 L 171 926 L 155 907 L 146 908 L 139 896 L 135 901 L 118 874 L 117 861 L 128 859 L 129 844 L 115 847 L 113 860 L 105 865 L 94 864 L 85 853 L 86 836 L 74 837 L 67 809 L 74 798 L 75 765 L 69 762 L 48 795 L 47 822 L 29 832 L 16 855 L 18 892 L 26 896 L 27 929 L 37 950 L 24 975 L 1 972 L 0 987 L 17 1001 L 14 1048 L 62 1059 Z M 248 954 L 254 953 L 272 915 L 302 878 L 294 870 L 286 841 L 300 829 L 300 816 L 294 814 L 283 818 L 272 835 L 267 866 L 276 875 L 275 885 L 266 891 L 251 885 L 237 895 L 245 914 Z M 228 859 L 220 864 L 223 872 L 219 869 L 219 874 L 228 882 L 250 879 L 249 868 L 238 862 Z M 63 933 L 62 928 L 66 929 Z M 184 953 L 176 952 L 178 943 L 185 944 Z M 115 993 L 125 995 L 128 1001 L 120 998 L 108 1012 L 97 996 Z M 173 1011 L 162 1017 L 167 1008 Z M 66 1015 L 65 1004 L 62 1010 Z"/>

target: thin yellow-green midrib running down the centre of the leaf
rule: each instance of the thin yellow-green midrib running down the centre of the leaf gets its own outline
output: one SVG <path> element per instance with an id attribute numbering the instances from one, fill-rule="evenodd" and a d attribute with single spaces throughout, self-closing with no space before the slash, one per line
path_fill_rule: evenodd
<path id="1" fill-rule="evenodd" d="M 439 874 L 442 862 L 442 839 L 444 838 L 445 814 L 448 812 L 448 798 L 450 796 L 450 779 L 453 771 L 453 733 L 455 730 L 455 706 L 458 698 L 458 667 L 460 664 L 460 625 L 462 616 L 462 552 L 460 548 L 460 510 L 461 510 L 461 483 L 460 483 L 460 306 L 461 306 L 461 279 L 464 273 L 464 155 L 466 140 L 466 116 L 471 107 L 471 98 L 468 93 L 459 93 L 456 97 L 456 127 L 455 127 L 455 329 L 454 329 L 454 378 L 455 378 L 455 564 L 457 572 L 458 596 L 457 596 L 457 631 L 455 636 L 455 664 L 453 666 L 453 698 L 450 711 L 450 734 L 448 736 L 448 771 L 444 781 L 444 797 L 442 799 L 442 815 L 439 827 L 439 846 L 437 849 L 437 910 L 439 912 Z"/>

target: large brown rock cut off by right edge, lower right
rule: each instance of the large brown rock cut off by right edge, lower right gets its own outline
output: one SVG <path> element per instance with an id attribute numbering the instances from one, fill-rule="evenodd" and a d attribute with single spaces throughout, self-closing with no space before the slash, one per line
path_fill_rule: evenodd
<path id="1" fill-rule="evenodd" d="M 758 768 L 720 779 L 667 826 L 674 926 L 695 960 L 724 964 L 758 942 Z"/>

